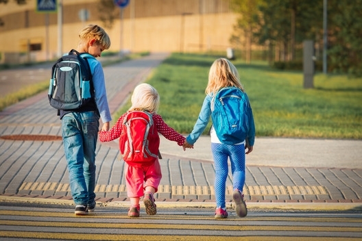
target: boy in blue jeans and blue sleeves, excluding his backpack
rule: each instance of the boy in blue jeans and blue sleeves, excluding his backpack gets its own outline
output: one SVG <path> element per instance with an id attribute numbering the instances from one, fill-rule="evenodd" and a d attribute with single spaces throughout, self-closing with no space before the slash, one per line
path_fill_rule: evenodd
<path id="1" fill-rule="evenodd" d="M 112 120 L 108 107 L 104 72 L 95 58 L 109 49 L 110 38 L 97 25 L 88 25 L 80 31 L 77 50 L 86 57 L 93 76 L 95 99 L 76 110 L 60 110 L 62 139 L 67 159 L 71 194 L 75 203 L 75 214 L 86 215 L 95 209 L 95 149 L 99 131 L 108 131 Z"/>

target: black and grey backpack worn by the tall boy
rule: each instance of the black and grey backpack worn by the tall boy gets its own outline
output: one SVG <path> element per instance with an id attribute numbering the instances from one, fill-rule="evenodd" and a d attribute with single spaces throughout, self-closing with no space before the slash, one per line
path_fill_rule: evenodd
<path id="1" fill-rule="evenodd" d="M 86 58 L 72 49 L 53 64 L 49 83 L 49 103 L 57 110 L 77 110 L 94 101 L 92 73 Z"/>

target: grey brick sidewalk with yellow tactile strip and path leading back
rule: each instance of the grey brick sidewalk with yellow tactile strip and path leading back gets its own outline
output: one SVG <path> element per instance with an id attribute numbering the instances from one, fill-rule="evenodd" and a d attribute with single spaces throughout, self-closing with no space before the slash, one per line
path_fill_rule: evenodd
<path id="1" fill-rule="evenodd" d="M 112 113 L 167 56 L 152 53 L 104 67 Z M 16 78 L 34 79 L 26 82 L 32 84 L 49 75 L 46 65 L 0 71 L 0 89 L 10 93 L 19 88 Z M 47 92 L 0 112 L 0 202 L 73 203 L 60 125 Z M 160 152 L 158 207 L 215 207 L 209 136 L 186 151 L 161 137 Z M 254 151 L 246 159 L 245 201 L 249 208 L 361 210 L 361 161 L 362 140 L 256 137 Z M 97 144 L 96 165 L 97 205 L 129 205 L 117 141 Z M 232 207 L 230 172 L 226 186 L 226 201 Z"/>

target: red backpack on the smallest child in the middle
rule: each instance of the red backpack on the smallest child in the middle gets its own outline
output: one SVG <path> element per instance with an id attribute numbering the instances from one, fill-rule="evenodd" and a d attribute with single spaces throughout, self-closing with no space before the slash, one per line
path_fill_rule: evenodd
<path id="1" fill-rule="evenodd" d="M 160 137 L 152 114 L 143 111 L 129 112 L 123 119 L 119 149 L 123 160 L 130 166 L 149 166 L 158 157 Z"/>

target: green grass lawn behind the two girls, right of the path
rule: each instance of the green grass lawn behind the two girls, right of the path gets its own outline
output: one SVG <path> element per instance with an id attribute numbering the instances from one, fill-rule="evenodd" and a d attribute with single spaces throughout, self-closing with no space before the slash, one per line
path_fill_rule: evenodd
<path id="1" fill-rule="evenodd" d="M 208 70 L 219 57 L 174 53 L 148 79 L 160 93 L 158 113 L 180 133 L 193 129 Z M 233 64 L 250 98 L 256 136 L 362 139 L 361 78 L 317 73 L 315 88 L 304 89 L 302 72 L 276 71 L 265 62 Z M 114 119 L 128 107 L 130 103 Z"/>

